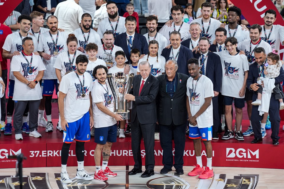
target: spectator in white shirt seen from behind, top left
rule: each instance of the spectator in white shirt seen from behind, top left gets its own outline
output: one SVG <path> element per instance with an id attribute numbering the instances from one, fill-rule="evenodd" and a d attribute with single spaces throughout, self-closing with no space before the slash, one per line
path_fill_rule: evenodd
<path id="1" fill-rule="evenodd" d="M 82 26 L 83 9 L 78 2 L 79 0 L 63 1 L 57 5 L 54 12 L 54 16 L 58 18 L 58 27 L 65 29 L 67 34 Z"/>

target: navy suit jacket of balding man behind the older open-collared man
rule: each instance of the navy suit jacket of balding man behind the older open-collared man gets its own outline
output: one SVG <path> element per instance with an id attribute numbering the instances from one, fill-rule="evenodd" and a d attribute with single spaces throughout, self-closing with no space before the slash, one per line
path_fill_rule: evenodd
<path id="1" fill-rule="evenodd" d="M 172 49 L 164 48 L 161 55 L 166 58 L 166 61 L 168 61 L 169 57 L 172 57 Z M 180 45 L 180 53 L 178 54 L 178 73 L 189 75 L 187 61 L 191 58 L 193 58 L 191 50 L 183 45 Z"/>

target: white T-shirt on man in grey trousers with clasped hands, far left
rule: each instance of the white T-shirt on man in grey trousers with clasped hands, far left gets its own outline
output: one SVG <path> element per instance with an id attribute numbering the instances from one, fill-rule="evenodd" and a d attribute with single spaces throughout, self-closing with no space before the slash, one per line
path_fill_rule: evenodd
<path id="1" fill-rule="evenodd" d="M 39 71 L 45 70 L 45 66 L 41 60 L 41 57 L 33 54 L 33 61 L 30 64 L 32 56 L 25 56 L 28 62 L 20 52 L 20 55 L 13 56 L 11 61 L 11 72 L 19 71 L 20 74 L 28 81 L 34 81 Z M 20 82 L 15 77 L 15 86 L 13 100 L 40 100 L 42 99 L 41 86 L 35 85 L 34 89 L 31 89 L 27 84 Z"/>

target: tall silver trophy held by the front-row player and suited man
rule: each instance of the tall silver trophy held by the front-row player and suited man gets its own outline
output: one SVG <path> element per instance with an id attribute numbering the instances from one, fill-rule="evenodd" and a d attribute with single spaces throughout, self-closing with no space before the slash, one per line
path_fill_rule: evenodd
<path id="1" fill-rule="evenodd" d="M 124 120 L 130 118 L 128 104 L 127 100 L 124 99 L 124 94 L 130 92 L 133 79 L 134 74 L 128 74 L 128 76 L 123 72 L 117 72 L 114 75 L 107 74 L 107 81 L 114 97 L 114 113 L 120 114 Z M 122 93 L 119 92 L 119 87 L 123 87 Z"/>

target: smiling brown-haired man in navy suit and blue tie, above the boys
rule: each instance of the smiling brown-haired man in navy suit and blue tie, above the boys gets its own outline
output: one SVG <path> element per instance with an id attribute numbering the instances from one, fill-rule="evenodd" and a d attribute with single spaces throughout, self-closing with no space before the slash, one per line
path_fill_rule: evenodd
<path id="1" fill-rule="evenodd" d="M 131 64 L 130 52 L 132 49 L 137 48 L 140 50 L 140 54 L 148 54 L 148 43 L 146 38 L 135 32 L 137 25 L 136 18 L 133 16 L 128 16 L 125 18 L 126 32 L 117 35 L 114 40 L 114 45 L 121 47 L 127 58 L 127 64 Z"/>

